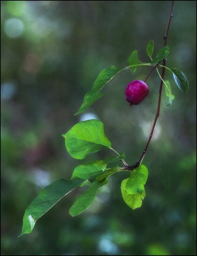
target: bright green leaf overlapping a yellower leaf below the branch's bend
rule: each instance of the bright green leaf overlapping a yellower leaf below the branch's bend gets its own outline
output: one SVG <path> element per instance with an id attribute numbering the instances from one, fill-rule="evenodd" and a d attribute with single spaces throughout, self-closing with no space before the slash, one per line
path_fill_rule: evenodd
<path id="1" fill-rule="evenodd" d="M 129 180 L 126 184 L 127 192 L 132 195 L 136 193 L 139 193 L 141 195 L 144 190 L 144 185 L 146 183 L 147 177 L 148 169 L 145 165 L 140 164 L 139 167 L 131 172 Z"/>

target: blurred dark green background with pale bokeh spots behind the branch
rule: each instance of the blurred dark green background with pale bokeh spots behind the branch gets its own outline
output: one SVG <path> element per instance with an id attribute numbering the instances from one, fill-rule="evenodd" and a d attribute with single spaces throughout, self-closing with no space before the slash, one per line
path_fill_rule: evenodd
<path id="1" fill-rule="evenodd" d="M 74 116 L 99 72 L 127 65 L 131 52 L 148 62 L 163 47 L 171 1 L 1 1 L 1 255 L 196 255 L 196 1 L 175 1 L 167 67 L 189 81 L 175 95 L 162 91 L 160 117 L 143 160 L 149 171 L 142 207 L 130 209 L 120 185 L 128 172 L 109 178 L 94 203 L 71 217 L 84 191 L 75 189 L 21 233 L 27 206 L 54 180 L 70 179 L 82 163 L 105 159 L 109 149 L 73 159 L 64 138 L 74 124 L 96 118 L 125 161 L 134 164 L 150 134 L 160 79 L 147 80 L 149 96 L 129 106 L 124 91 L 151 68 L 122 71 L 107 94 Z M 161 69 L 160 69 L 161 71 Z M 121 166 L 121 162 L 119 164 Z"/>

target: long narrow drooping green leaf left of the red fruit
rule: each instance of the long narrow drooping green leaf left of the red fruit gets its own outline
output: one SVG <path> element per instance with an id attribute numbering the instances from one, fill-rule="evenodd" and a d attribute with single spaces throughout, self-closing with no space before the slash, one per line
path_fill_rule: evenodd
<path id="1" fill-rule="evenodd" d="M 122 71 L 124 68 L 116 68 L 114 66 L 110 68 L 106 68 L 99 73 L 99 76 L 94 82 L 93 88 L 91 92 L 87 92 L 83 99 L 83 104 L 75 113 L 75 115 L 83 112 L 86 108 L 88 108 L 91 104 L 93 104 L 96 100 L 98 100 L 105 93 L 99 93 L 99 91 L 106 85 L 116 74 Z"/>

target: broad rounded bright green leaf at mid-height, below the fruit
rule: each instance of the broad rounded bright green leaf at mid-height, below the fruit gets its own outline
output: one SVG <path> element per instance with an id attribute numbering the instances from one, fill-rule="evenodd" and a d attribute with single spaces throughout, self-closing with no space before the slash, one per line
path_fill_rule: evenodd
<path id="1" fill-rule="evenodd" d="M 103 123 L 96 119 L 75 124 L 62 136 L 68 153 L 76 159 L 83 159 L 88 153 L 102 148 L 111 148 L 111 142 L 104 134 Z"/>

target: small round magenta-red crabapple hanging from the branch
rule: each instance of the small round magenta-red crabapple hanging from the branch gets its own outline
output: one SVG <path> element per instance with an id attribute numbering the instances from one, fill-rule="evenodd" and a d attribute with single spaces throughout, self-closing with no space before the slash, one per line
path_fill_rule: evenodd
<path id="1" fill-rule="evenodd" d="M 130 106 L 138 105 L 146 98 L 149 93 L 147 84 L 141 80 L 135 80 L 127 85 L 125 90 L 126 100 L 129 101 Z"/>

